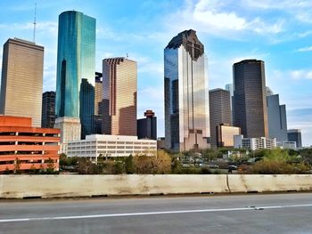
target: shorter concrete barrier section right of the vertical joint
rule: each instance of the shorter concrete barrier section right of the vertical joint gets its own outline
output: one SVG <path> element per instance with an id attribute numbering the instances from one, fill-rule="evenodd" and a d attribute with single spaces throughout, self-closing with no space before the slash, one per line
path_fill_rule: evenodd
<path id="1" fill-rule="evenodd" d="M 231 174 L 231 192 L 308 191 L 312 190 L 311 174 Z"/>

